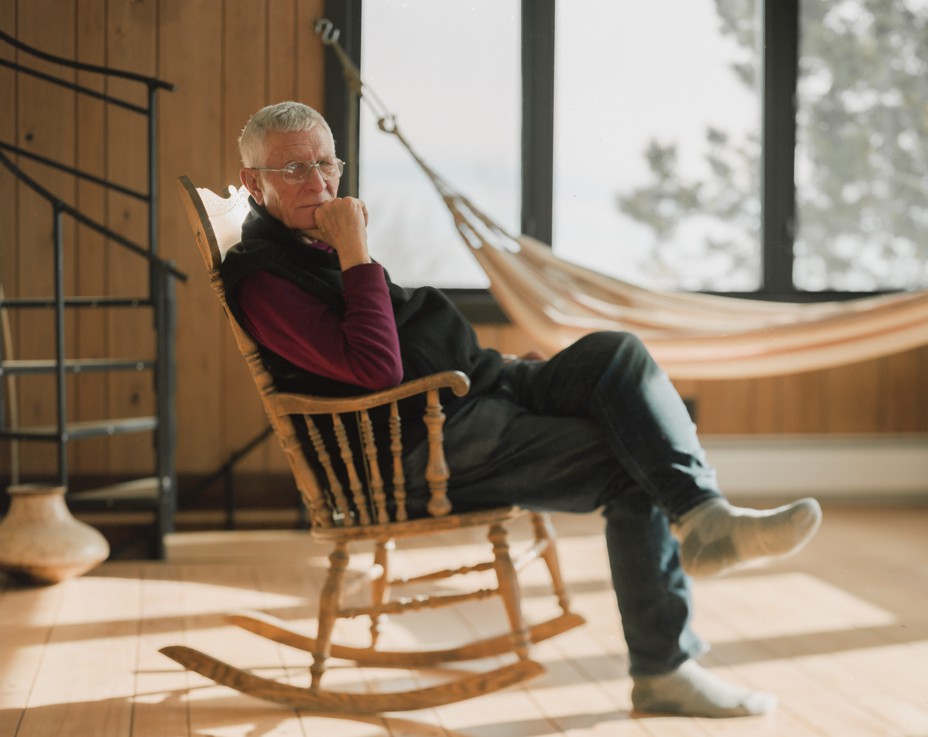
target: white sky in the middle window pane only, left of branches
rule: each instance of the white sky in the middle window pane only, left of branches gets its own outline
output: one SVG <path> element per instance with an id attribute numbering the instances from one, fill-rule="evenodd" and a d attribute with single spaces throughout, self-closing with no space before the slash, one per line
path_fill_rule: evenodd
<path id="1" fill-rule="evenodd" d="M 712 0 L 562 2 L 556 39 L 555 252 L 646 282 L 650 233 L 616 199 L 646 180 L 648 141 L 677 143 L 695 176 L 706 127 L 756 130 L 757 97 L 728 68 L 737 47 Z M 702 236 L 680 233 L 687 244 Z M 704 268 L 695 255 L 692 268 Z"/>

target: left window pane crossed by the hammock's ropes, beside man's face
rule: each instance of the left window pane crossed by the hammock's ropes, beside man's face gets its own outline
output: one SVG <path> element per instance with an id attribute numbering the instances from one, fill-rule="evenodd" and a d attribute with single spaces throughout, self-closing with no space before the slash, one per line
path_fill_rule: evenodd
<path id="1" fill-rule="evenodd" d="M 362 75 L 451 186 L 518 231 L 519 0 L 375 0 L 362 15 Z M 359 191 L 375 258 L 399 284 L 482 287 L 487 279 L 441 198 L 361 106 Z"/>

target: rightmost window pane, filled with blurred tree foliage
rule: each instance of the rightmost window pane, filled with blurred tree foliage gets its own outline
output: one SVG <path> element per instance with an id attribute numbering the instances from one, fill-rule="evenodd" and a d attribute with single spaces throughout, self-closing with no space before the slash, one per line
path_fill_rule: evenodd
<path id="1" fill-rule="evenodd" d="M 928 2 L 800 3 L 794 279 L 928 286 Z"/>

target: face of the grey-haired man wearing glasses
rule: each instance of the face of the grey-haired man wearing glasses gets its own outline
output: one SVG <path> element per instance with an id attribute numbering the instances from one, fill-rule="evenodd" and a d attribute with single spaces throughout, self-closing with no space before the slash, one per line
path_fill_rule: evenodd
<path id="1" fill-rule="evenodd" d="M 308 131 L 272 132 L 264 139 L 264 160 L 257 166 L 280 169 L 293 161 L 335 158 L 332 135 L 321 125 Z M 334 200 L 339 178 L 322 178 L 314 168 L 305 182 L 289 184 L 281 172 L 242 169 L 242 182 L 259 205 L 294 230 L 316 227 L 316 208 Z"/>

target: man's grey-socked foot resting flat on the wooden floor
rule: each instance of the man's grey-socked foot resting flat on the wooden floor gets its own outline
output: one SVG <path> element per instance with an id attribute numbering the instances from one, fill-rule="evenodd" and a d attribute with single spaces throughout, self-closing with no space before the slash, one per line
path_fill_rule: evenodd
<path id="1" fill-rule="evenodd" d="M 675 671 L 634 679 L 632 706 L 637 712 L 688 717 L 747 717 L 773 711 L 777 698 L 723 681 L 687 660 Z"/>

